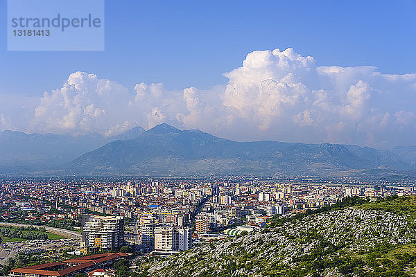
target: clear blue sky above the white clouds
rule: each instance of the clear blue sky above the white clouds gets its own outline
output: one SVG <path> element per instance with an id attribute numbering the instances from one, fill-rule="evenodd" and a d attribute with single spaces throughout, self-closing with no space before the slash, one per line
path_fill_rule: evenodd
<path id="1" fill-rule="evenodd" d="M 318 65 L 416 72 L 415 1 L 105 1 L 104 52 L 6 51 L 0 1 L 2 93 L 40 95 L 73 71 L 128 87 L 225 84 L 251 51 L 293 47 Z"/>

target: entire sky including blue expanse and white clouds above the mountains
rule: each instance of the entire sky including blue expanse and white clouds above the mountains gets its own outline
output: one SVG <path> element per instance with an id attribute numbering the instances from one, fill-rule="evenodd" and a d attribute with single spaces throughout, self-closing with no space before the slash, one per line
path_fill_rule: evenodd
<path id="1" fill-rule="evenodd" d="M 0 0 L 0 131 L 110 135 L 167 122 L 239 141 L 415 145 L 415 10 L 107 0 L 105 51 L 13 52 Z"/>

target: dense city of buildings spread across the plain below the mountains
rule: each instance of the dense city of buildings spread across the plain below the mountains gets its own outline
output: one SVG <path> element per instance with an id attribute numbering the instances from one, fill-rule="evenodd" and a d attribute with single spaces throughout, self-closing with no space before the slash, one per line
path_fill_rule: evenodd
<path id="1" fill-rule="evenodd" d="M 376 202 L 413 195 L 413 186 L 406 179 L 312 177 L 4 178 L 2 274 L 145 276 L 144 262 L 263 233 L 276 220 L 345 197 Z"/>

